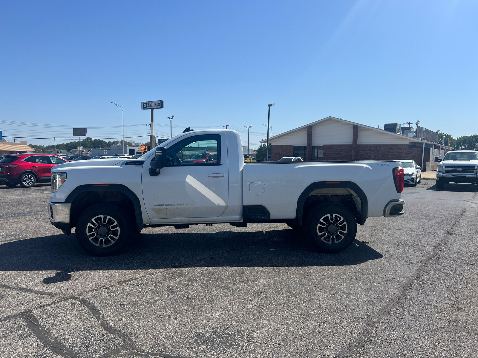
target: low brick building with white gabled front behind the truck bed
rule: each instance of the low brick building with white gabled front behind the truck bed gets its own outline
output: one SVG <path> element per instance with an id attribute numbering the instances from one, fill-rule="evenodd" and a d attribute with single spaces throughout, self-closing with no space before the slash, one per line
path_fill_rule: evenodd
<path id="1" fill-rule="evenodd" d="M 412 159 L 423 170 L 433 170 L 436 166 L 433 158 L 443 158 L 446 151 L 445 146 L 437 143 L 335 117 L 271 137 L 269 145 L 272 145 L 273 161 L 292 156 L 304 160 Z"/>

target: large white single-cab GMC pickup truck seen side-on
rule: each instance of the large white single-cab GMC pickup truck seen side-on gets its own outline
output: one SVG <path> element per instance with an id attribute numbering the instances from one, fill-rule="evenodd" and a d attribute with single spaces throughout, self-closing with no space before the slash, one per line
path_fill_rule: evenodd
<path id="1" fill-rule="evenodd" d="M 209 155 L 208 155 L 209 154 Z M 325 253 L 346 249 L 357 223 L 404 213 L 400 161 L 244 163 L 234 130 L 186 128 L 137 159 L 52 169 L 51 223 L 93 255 L 123 249 L 144 227 L 285 222 Z"/>

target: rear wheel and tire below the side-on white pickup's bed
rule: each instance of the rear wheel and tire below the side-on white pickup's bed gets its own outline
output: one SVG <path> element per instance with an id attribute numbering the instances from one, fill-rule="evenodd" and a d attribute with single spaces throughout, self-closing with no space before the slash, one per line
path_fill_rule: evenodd
<path id="1" fill-rule="evenodd" d="M 319 252 L 339 253 L 354 241 L 357 221 L 343 205 L 319 205 L 309 212 L 305 232 Z"/>

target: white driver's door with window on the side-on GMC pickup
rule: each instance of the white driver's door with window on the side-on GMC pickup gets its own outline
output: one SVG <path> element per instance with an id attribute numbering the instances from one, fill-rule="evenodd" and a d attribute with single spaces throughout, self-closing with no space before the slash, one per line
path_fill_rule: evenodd
<path id="1" fill-rule="evenodd" d="M 143 200 L 150 219 L 220 216 L 228 207 L 226 146 L 223 134 L 191 134 L 166 149 L 167 165 L 158 176 L 149 175 L 150 157 L 142 172 Z M 214 153 L 217 159 L 187 161 L 197 153 Z"/>

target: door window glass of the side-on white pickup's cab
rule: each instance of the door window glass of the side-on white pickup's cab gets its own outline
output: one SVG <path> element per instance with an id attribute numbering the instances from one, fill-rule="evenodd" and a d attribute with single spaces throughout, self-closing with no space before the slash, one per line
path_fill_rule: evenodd
<path id="1" fill-rule="evenodd" d="M 221 136 L 187 137 L 166 149 L 166 166 L 220 165 Z"/>

